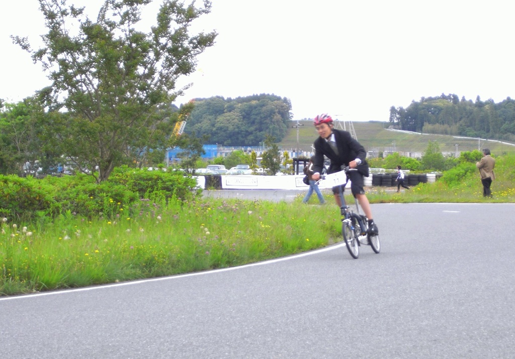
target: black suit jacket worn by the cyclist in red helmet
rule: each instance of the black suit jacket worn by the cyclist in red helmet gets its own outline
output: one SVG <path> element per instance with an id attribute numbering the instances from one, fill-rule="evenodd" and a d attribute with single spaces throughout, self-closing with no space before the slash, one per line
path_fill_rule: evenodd
<path id="1" fill-rule="evenodd" d="M 338 148 L 338 154 L 336 154 L 329 143 L 322 137 L 318 137 L 315 140 L 315 156 L 313 158 L 313 171 L 322 173 L 323 168 L 323 156 L 325 155 L 331 161 L 328 173 L 334 173 L 341 171 L 341 166 L 348 166 L 349 162 L 359 158 L 361 164 L 357 166 L 359 173 L 364 176 L 368 176 L 368 163 L 366 161 L 367 151 L 365 148 L 347 131 L 333 129 L 334 139 L 336 141 L 336 147 Z"/>

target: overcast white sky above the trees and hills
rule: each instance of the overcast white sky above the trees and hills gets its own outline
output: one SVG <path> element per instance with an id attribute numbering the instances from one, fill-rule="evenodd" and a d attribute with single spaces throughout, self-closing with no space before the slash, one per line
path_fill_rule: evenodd
<path id="1" fill-rule="evenodd" d="M 68 2 L 93 19 L 103 3 Z M 500 102 L 515 97 L 514 13 L 504 0 L 213 0 L 195 29 L 215 29 L 216 44 L 198 58 L 187 81 L 194 85 L 176 104 L 267 93 L 290 98 L 294 119 L 327 112 L 387 121 L 390 106 L 441 93 Z M 154 19 L 149 8 L 145 31 Z M 37 0 L 2 2 L 0 98 L 20 101 L 48 85 L 9 38 L 37 43 L 43 33 Z"/>

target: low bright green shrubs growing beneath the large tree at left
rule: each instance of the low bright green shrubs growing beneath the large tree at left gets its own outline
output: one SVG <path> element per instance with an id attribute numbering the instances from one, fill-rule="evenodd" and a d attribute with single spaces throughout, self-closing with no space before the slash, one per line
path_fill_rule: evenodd
<path id="1" fill-rule="evenodd" d="M 42 180 L 15 175 L 0 176 L 0 214 L 27 221 L 44 215 L 71 213 L 85 218 L 132 216 L 140 211 L 141 200 L 187 201 L 195 178 L 184 172 L 148 171 L 123 167 L 113 171 L 108 181 L 97 184 L 92 176 L 47 176 Z"/>

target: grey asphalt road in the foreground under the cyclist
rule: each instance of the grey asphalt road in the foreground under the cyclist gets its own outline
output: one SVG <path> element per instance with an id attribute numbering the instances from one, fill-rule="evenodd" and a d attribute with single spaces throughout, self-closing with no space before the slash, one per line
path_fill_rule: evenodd
<path id="1" fill-rule="evenodd" d="M 373 205 L 382 250 L 0 299 L 3 358 L 512 358 L 513 204 Z"/>

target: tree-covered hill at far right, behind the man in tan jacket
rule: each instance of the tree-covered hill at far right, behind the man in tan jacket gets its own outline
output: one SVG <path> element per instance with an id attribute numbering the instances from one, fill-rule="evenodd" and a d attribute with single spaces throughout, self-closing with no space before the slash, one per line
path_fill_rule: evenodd
<path id="1" fill-rule="evenodd" d="M 403 107 L 390 107 L 396 128 L 422 133 L 482 137 L 515 141 L 515 100 L 475 102 L 457 95 L 423 97 Z"/>

